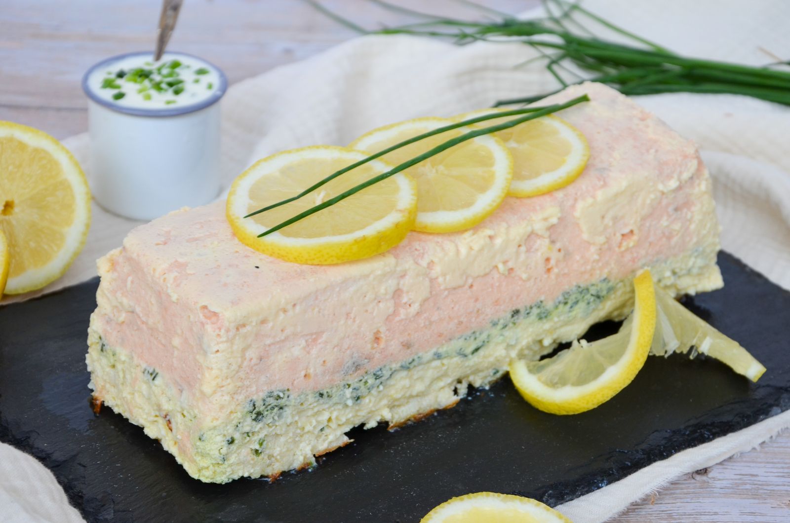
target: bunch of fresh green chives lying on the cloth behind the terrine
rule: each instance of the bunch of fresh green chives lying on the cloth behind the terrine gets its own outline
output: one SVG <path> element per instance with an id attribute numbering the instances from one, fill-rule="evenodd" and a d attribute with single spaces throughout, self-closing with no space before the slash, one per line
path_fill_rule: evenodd
<path id="1" fill-rule="evenodd" d="M 478 40 L 525 43 L 540 52 L 539 58 L 545 60 L 546 69 L 557 79 L 561 88 L 589 80 L 610 85 L 626 95 L 660 92 L 727 93 L 790 105 L 790 71 L 777 69 L 777 66 L 787 66 L 787 61 L 777 60 L 766 66 L 753 67 L 676 55 L 598 17 L 581 7 L 579 2 L 544 0 L 546 17 L 519 20 L 506 13 L 477 6 L 468 0 L 458 0 L 498 17 L 496 21 L 464 21 L 420 13 L 383 0 L 368 0 L 386 9 L 418 17 L 422 21 L 367 31 L 330 12 L 316 0 L 305 1 L 357 32 L 430 36 L 461 44 Z M 596 37 L 581 23 L 582 17 L 585 21 L 596 22 L 626 36 L 634 45 Z M 569 76 L 572 79 L 569 80 Z M 515 100 L 501 100 L 497 105 L 529 103 L 549 94 L 551 92 Z"/>

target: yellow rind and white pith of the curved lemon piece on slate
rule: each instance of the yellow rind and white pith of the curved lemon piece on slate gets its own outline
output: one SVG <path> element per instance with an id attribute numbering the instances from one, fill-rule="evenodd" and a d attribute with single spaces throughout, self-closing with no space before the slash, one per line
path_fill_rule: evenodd
<path id="1" fill-rule="evenodd" d="M 591 382 L 582 385 L 564 385 L 559 387 L 548 386 L 536 374 L 532 374 L 530 367 L 536 367 L 538 362 L 525 362 L 516 359 L 510 363 L 510 378 L 521 396 L 534 407 L 552 414 L 577 414 L 595 408 L 614 397 L 625 388 L 645 365 L 645 360 L 653 341 L 656 326 L 656 298 L 653 288 L 653 278 L 649 270 L 643 270 L 634 277 L 634 312 L 630 321 L 626 320 L 620 332 L 599 341 L 593 341 L 586 346 L 574 346 L 551 358 L 548 363 L 540 362 L 544 370 L 551 367 L 552 363 L 562 362 L 562 359 L 581 357 L 581 352 L 594 351 L 596 344 L 602 345 L 611 342 L 610 338 L 625 337 L 627 333 L 627 346 L 622 356 Z M 625 329 L 630 329 L 626 331 Z M 563 364 L 569 363 L 568 361 Z"/>

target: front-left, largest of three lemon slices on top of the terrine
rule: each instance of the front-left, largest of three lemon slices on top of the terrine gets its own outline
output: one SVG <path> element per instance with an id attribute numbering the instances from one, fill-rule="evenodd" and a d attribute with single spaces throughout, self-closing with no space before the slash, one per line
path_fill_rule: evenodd
<path id="1" fill-rule="evenodd" d="M 344 147 L 316 146 L 279 152 L 258 160 L 231 185 L 228 222 L 247 246 L 296 263 L 330 264 L 379 254 L 400 243 L 414 224 L 417 191 L 399 173 L 349 198 L 262 238 L 261 232 L 389 171 L 373 160 L 286 205 L 245 218 L 249 213 L 299 194 L 315 182 L 367 155 Z"/>

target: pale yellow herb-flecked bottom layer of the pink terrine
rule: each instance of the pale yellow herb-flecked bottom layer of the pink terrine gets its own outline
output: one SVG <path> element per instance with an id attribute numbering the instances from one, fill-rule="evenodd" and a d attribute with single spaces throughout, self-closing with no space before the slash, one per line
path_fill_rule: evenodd
<path id="1" fill-rule="evenodd" d="M 656 281 L 674 294 L 721 286 L 715 253 L 692 252 L 653 266 Z M 88 369 L 95 397 L 162 442 L 190 476 L 224 483 L 274 476 L 314 465 L 314 457 L 348 442 L 359 425 L 403 423 L 453 405 L 469 385 L 487 386 L 513 358 L 537 359 L 589 326 L 630 312 L 630 280 L 568 289 L 555 303 L 533 303 L 494 318 L 486 329 L 459 337 L 407 361 L 368 370 L 330 389 L 261 391 L 229 405 L 228 416 L 207 420 L 155 368 L 126 348 L 110 347 L 88 330 Z M 194 430 L 198 424 L 198 431 Z M 190 430 L 186 430 L 189 427 Z M 198 434 L 183 441 L 179 434 Z"/>

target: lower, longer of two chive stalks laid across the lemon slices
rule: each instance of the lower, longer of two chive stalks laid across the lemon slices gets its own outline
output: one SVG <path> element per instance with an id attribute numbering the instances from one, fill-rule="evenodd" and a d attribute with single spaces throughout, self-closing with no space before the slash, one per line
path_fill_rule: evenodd
<path id="1" fill-rule="evenodd" d="M 423 152 L 422 154 L 415 156 L 411 160 L 406 160 L 402 164 L 397 165 L 397 167 L 393 167 L 389 171 L 374 176 L 373 178 L 367 180 L 366 182 L 359 183 L 358 185 L 353 186 L 351 189 L 348 189 L 333 198 L 329 198 L 329 200 L 326 200 L 318 205 L 314 205 L 313 207 L 310 207 L 310 209 L 307 209 L 302 213 L 299 213 L 296 216 L 293 216 L 292 218 L 289 218 L 288 220 L 281 222 L 280 224 L 276 224 L 273 228 L 269 228 L 266 231 L 261 232 L 261 234 L 258 235 L 258 238 L 262 238 L 263 236 L 270 235 L 273 232 L 279 231 L 281 228 L 288 227 L 288 225 L 290 224 L 302 220 L 303 218 L 307 218 L 307 216 L 310 216 L 311 214 L 318 213 L 318 211 L 322 209 L 326 209 L 331 205 L 335 205 L 338 201 L 343 201 L 349 196 L 358 193 L 360 190 L 363 190 L 366 187 L 374 185 L 375 183 L 381 182 L 382 180 L 386 180 L 394 175 L 397 175 L 397 173 L 404 171 L 405 169 L 408 169 L 408 167 L 412 167 L 413 165 L 419 164 L 419 162 L 423 160 L 427 160 L 428 158 L 431 158 L 431 156 L 436 156 L 439 152 L 446 151 L 446 149 L 450 149 L 455 145 L 461 144 L 468 140 L 472 140 L 472 138 L 483 136 L 483 134 L 491 134 L 501 130 L 510 129 L 510 127 L 517 126 L 524 122 L 529 122 L 529 120 L 538 119 L 541 116 L 550 115 L 551 113 L 557 111 L 562 111 L 563 109 L 567 109 L 568 107 L 573 107 L 577 103 L 585 102 L 588 100 L 589 97 L 587 95 L 577 96 L 573 100 L 570 100 L 566 103 L 559 103 L 557 105 L 544 107 L 543 109 L 540 109 L 540 111 L 532 111 L 528 115 L 521 116 L 521 118 L 516 118 L 509 120 L 507 122 L 502 122 L 495 126 L 488 126 L 488 127 L 483 127 L 482 129 L 472 130 L 469 131 L 468 133 L 461 134 L 461 136 L 451 138 L 450 140 L 437 145 L 433 149 L 428 149 L 426 152 Z M 501 114 L 498 114 L 496 116 L 500 118 L 502 117 Z M 247 216 L 251 216 L 251 215 L 247 215 Z"/>

